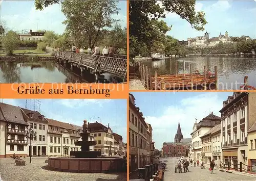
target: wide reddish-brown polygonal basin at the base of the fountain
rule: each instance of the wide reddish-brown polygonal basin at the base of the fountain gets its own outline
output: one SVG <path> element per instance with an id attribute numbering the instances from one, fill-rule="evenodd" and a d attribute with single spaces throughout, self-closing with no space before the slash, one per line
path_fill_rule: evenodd
<path id="1" fill-rule="evenodd" d="M 49 169 L 64 172 L 100 173 L 123 172 L 123 158 L 67 158 L 49 157 Z"/>

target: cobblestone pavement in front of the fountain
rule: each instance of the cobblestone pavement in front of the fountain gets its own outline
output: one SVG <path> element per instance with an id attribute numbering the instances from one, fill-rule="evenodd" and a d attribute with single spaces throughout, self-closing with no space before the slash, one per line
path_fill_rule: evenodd
<path id="1" fill-rule="evenodd" d="M 16 166 L 11 159 L 0 159 L 3 181 L 126 181 L 126 173 L 68 173 L 47 170 L 47 158 L 26 158 L 26 166 Z"/>

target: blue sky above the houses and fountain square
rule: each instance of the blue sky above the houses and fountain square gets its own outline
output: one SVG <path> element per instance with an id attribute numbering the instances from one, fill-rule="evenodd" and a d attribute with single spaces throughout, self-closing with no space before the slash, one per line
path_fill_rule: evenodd
<path id="1" fill-rule="evenodd" d="M 27 99 L 27 109 L 34 110 L 34 99 Z M 38 99 L 41 101 L 40 113 L 46 118 L 82 126 L 83 120 L 100 121 L 113 132 L 127 140 L 127 103 L 126 99 Z M 1 99 L 1 102 L 26 108 L 26 99 Z M 39 111 L 36 104 L 35 111 Z"/>

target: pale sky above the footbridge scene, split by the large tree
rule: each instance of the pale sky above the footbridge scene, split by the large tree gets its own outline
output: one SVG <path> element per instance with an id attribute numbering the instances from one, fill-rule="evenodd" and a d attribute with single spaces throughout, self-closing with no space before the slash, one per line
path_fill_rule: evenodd
<path id="1" fill-rule="evenodd" d="M 58 34 L 65 31 L 65 15 L 61 12 L 61 5 L 55 4 L 45 8 L 43 11 L 35 10 L 34 1 L 3 1 L 1 3 L 1 21 L 5 21 L 10 30 L 52 30 Z M 126 1 L 119 1 L 119 14 L 113 18 L 120 19 L 122 27 L 126 27 Z"/>

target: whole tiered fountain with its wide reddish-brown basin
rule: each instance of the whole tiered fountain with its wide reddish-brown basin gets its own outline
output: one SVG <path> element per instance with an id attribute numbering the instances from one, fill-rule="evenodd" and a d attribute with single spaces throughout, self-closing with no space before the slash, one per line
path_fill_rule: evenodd
<path id="1" fill-rule="evenodd" d="M 49 157 L 48 167 L 51 170 L 63 172 L 125 172 L 126 160 L 120 157 L 101 157 L 101 151 L 90 151 L 90 146 L 96 141 L 89 141 L 87 121 L 83 121 L 83 132 L 80 134 L 82 141 L 75 142 L 81 146 L 81 151 L 70 151 L 71 157 Z"/>

